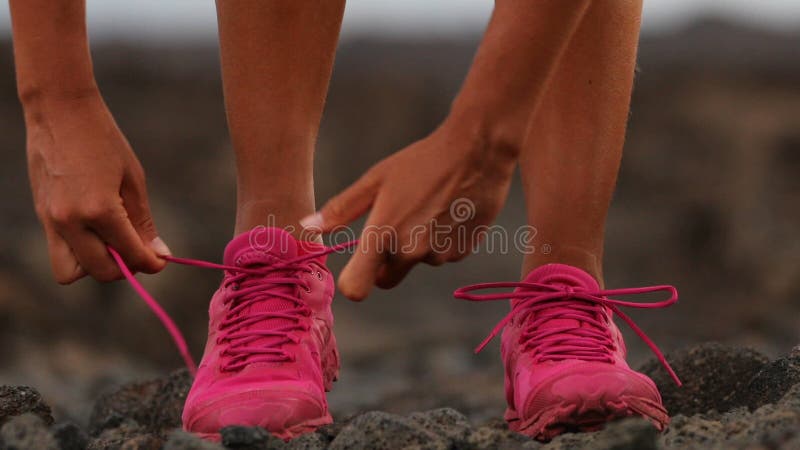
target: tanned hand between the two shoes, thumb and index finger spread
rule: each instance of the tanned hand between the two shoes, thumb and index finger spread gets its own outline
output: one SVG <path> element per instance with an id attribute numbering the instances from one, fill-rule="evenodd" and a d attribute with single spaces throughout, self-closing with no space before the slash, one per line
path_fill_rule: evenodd
<path id="1" fill-rule="evenodd" d="M 330 232 L 371 209 L 338 283 L 359 301 L 373 284 L 397 285 L 419 262 L 440 265 L 468 255 L 482 237 L 476 231 L 502 208 L 515 165 L 507 149 L 446 122 L 373 166 L 301 223 Z M 472 210 L 462 214 L 462 206 Z"/>

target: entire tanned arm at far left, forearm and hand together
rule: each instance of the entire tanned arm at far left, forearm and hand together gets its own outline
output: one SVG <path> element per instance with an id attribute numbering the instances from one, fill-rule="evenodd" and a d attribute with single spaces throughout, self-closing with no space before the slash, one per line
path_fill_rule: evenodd
<path id="1" fill-rule="evenodd" d="M 103 101 L 92 72 L 81 0 L 10 0 L 28 171 L 53 275 L 122 276 L 106 245 L 132 269 L 157 272 L 158 239 L 144 171 Z"/>

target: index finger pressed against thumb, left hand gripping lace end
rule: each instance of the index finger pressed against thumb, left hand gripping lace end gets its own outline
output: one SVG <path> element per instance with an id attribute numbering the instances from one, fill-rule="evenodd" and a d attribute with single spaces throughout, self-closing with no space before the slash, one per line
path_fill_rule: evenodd
<path id="1" fill-rule="evenodd" d="M 167 264 L 145 245 L 124 212 L 98 217 L 91 222 L 91 227 L 94 234 L 120 254 L 132 271 L 156 273 Z"/>

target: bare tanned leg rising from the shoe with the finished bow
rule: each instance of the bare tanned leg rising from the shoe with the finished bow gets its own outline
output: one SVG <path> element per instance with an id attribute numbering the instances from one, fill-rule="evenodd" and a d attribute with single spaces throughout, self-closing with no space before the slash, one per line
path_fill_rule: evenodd
<path id="1" fill-rule="evenodd" d="M 558 262 L 603 283 L 605 221 L 625 140 L 641 8 L 641 0 L 593 2 L 534 113 L 520 168 L 528 223 L 538 232 L 523 276 Z"/>

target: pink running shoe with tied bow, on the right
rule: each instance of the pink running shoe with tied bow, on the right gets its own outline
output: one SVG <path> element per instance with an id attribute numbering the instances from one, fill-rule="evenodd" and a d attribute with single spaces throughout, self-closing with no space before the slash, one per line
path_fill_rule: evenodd
<path id="1" fill-rule="evenodd" d="M 490 288 L 512 293 L 470 294 Z M 633 303 L 608 298 L 665 291 L 670 298 Z M 456 298 L 511 300 L 511 312 L 476 349 L 500 330 L 505 366 L 509 428 L 539 440 L 565 431 L 592 431 L 611 420 L 639 415 L 663 430 L 669 416 L 661 395 L 647 376 L 625 362 L 625 342 L 612 317 L 616 314 L 641 337 L 680 385 L 653 342 L 619 310 L 621 306 L 663 308 L 678 300 L 672 286 L 601 290 L 576 267 L 547 264 L 518 283 L 483 283 L 458 289 Z"/>

